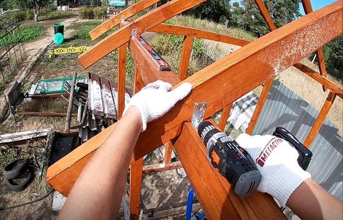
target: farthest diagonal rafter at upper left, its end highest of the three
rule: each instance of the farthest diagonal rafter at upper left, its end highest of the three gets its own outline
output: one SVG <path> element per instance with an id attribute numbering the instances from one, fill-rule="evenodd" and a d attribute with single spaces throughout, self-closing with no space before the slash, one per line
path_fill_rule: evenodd
<path id="1" fill-rule="evenodd" d="M 138 3 L 126 8 L 125 10 L 121 11 L 114 17 L 106 20 L 104 23 L 99 25 L 98 27 L 94 28 L 89 32 L 89 35 L 91 36 L 92 40 L 95 40 L 96 38 L 100 37 L 102 34 L 108 32 L 112 28 L 119 25 L 121 17 L 123 16 L 124 19 L 128 19 L 135 14 L 137 14 L 140 11 L 143 11 L 144 9 L 154 5 L 155 3 L 158 3 L 160 0 L 141 0 Z"/>

